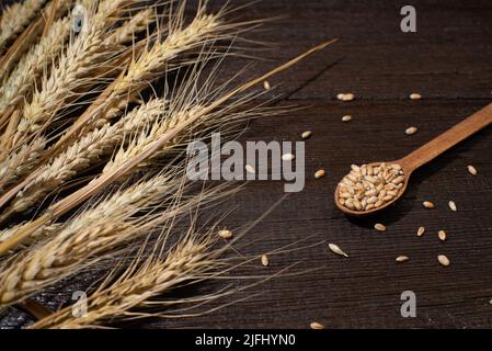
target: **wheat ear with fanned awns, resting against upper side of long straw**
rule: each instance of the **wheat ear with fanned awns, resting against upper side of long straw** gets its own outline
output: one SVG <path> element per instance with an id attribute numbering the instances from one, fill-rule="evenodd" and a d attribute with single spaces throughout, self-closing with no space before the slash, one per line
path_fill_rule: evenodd
<path id="1" fill-rule="evenodd" d="M 230 81 L 227 81 L 222 86 L 211 89 L 215 76 L 218 73 L 216 69 L 221 64 L 221 60 L 211 69 L 211 73 L 203 78 L 203 68 L 207 66 L 206 64 L 208 61 L 206 58 L 207 55 L 204 56 L 205 58 L 199 57 L 195 67 L 183 78 L 184 82 L 180 87 L 174 88 L 172 95 L 168 98 L 169 105 L 163 111 L 162 117 L 157 120 L 150 128 L 142 129 L 133 135 L 133 138 L 123 145 L 106 163 L 102 171 L 103 174 L 108 174 L 121 168 L 127 160 L 138 157 L 138 155 L 151 147 L 153 143 L 168 133 L 171 133 L 178 126 L 187 125 L 174 135 L 161 149 L 156 150 L 147 162 L 139 163 L 131 171 L 134 172 L 147 167 L 155 159 L 165 157 L 172 150 L 182 150 L 181 147 L 187 146 L 186 140 L 199 139 L 210 131 L 225 131 L 238 121 L 253 120 L 265 114 L 273 116 L 282 113 L 281 110 L 274 111 L 270 109 L 267 111 L 261 105 L 253 103 L 250 103 L 250 106 L 245 107 L 247 103 L 254 97 L 258 97 L 258 94 L 245 94 L 215 109 L 213 112 L 203 113 L 203 110 L 207 110 L 207 106 L 213 103 L 215 97 L 226 91 L 228 84 L 230 84 Z M 215 56 L 213 55 L 211 57 Z M 203 84 L 198 88 L 195 83 L 196 81 L 201 81 Z M 195 115 L 202 115 L 202 117 L 195 120 L 192 124 L 187 124 L 187 121 Z M 128 174 L 125 177 L 128 177 Z"/>

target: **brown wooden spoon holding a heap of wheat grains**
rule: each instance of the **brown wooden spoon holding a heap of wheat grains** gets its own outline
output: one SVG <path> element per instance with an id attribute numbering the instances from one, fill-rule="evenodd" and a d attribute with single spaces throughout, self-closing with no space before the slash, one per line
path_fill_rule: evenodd
<path id="1" fill-rule="evenodd" d="M 428 161 L 433 160 L 447 149 L 451 148 L 459 141 L 465 140 L 467 137 L 472 135 L 473 133 L 477 133 L 478 131 L 487 127 L 489 124 L 492 123 L 492 103 L 483 107 L 482 110 L 473 113 L 471 116 L 467 117 L 466 120 L 461 121 L 450 129 L 446 131 L 445 133 L 440 134 L 436 138 L 432 139 L 427 144 L 421 146 L 413 152 L 407 155 L 405 157 L 396 160 L 396 161 L 387 161 L 385 163 L 387 165 L 400 165 L 403 170 L 404 181 L 403 186 L 399 190 L 397 196 L 394 196 L 393 200 L 382 204 L 381 206 L 377 208 L 371 208 L 369 211 L 353 211 L 350 208 L 346 208 L 339 202 L 339 191 L 340 191 L 340 184 L 336 186 L 335 190 L 335 204 L 336 207 L 339 207 L 340 211 L 345 213 L 346 215 L 351 216 L 365 216 L 369 214 L 374 214 L 378 211 L 381 211 L 386 207 L 388 207 L 390 204 L 396 202 L 398 199 L 401 197 L 401 195 L 404 193 L 407 185 L 409 183 L 410 176 L 412 176 L 412 172 L 416 170 L 419 167 L 427 163 Z M 371 166 L 378 166 L 382 162 L 374 162 L 369 163 Z"/>

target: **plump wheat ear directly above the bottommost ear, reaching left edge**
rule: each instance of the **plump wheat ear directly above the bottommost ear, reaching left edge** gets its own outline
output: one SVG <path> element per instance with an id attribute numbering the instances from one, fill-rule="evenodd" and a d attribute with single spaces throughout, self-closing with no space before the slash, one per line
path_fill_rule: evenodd
<path id="1" fill-rule="evenodd" d="M 172 199 L 179 186 L 179 180 L 165 174 L 131 185 L 85 210 L 41 246 L 18 254 L 0 273 L 0 309 L 76 273 L 91 258 L 98 260 L 98 254 L 137 233 L 147 234 L 148 227 L 139 224 L 148 218 L 137 214 L 164 197 Z M 159 218 L 165 216 L 164 212 Z"/>

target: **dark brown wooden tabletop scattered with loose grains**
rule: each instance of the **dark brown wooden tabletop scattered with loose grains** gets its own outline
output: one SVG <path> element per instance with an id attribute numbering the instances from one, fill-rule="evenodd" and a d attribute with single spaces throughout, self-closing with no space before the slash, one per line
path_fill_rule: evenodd
<path id="1" fill-rule="evenodd" d="M 249 1 L 233 1 L 233 4 Z M 241 10 L 247 18 L 286 15 L 265 26 L 259 38 L 278 45 L 262 53 L 251 76 L 330 37 L 334 46 L 274 79 L 270 94 L 306 107 L 251 123 L 241 140 L 306 143 L 306 188 L 287 197 L 242 240 L 241 252 L 261 254 L 299 240 L 295 247 L 325 240 L 350 253 L 345 259 L 327 244 L 271 257 L 260 269 L 277 276 L 233 297 L 239 301 L 208 315 L 151 320 L 141 327 L 308 328 L 490 328 L 492 327 L 492 127 L 419 170 L 409 191 L 376 217 L 350 220 L 333 204 L 333 191 L 351 163 L 400 158 L 491 102 L 492 2 L 412 1 L 416 33 L 400 31 L 405 1 L 261 1 Z M 336 94 L 353 92 L 353 102 Z M 423 99 L 411 101 L 419 92 Z M 352 122 L 343 123 L 345 114 Z M 411 125 L 419 133 L 407 136 Z M 467 172 L 474 165 L 478 176 Z M 314 180 L 319 168 L 327 177 Z M 230 201 L 226 222 L 244 225 L 283 196 L 282 182 L 251 182 Z M 425 210 L 422 201 L 436 204 Z M 447 202 L 454 200 L 458 212 Z M 229 204 L 230 205 L 230 204 Z M 388 226 L 377 233 L 377 222 Z M 423 237 L 416 237 L 425 226 Z M 440 242 L 437 231 L 448 233 Z M 250 242 L 250 244 L 249 244 Z M 437 254 L 449 257 L 440 267 Z M 405 254 L 410 261 L 394 262 Z M 289 273 L 299 273 L 288 276 Z M 302 273 L 304 272 L 304 273 Z M 400 296 L 416 295 L 416 317 L 403 318 Z M 21 325 L 10 317 L 10 326 Z"/>

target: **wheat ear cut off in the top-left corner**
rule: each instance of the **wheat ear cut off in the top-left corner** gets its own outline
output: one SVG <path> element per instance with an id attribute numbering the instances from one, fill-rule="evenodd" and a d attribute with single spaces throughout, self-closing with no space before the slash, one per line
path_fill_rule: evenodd
<path id="1" fill-rule="evenodd" d="M 0 20 L 0 54 L 21 34 L 45 2 L 46 0 L 25 0 L 3 11 Z"/>

